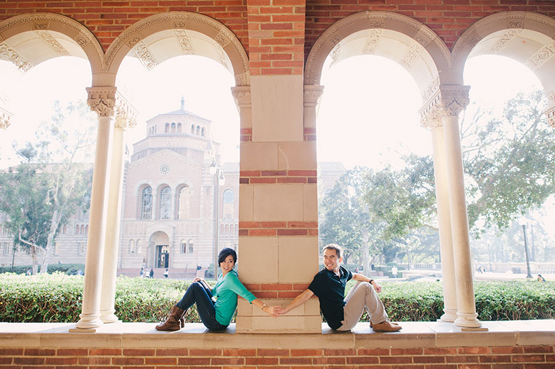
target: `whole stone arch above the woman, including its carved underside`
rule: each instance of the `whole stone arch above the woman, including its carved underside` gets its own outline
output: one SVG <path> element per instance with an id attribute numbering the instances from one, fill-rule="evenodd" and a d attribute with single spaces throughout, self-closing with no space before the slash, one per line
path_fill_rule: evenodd
<path id="1" fill-rule="evenodd" d="M 146 43 L 157 42 L 162 37 L 176 38 L 175 47 L 165 49 L 163 57 L 160 55 L 163 60 L 177 55 L 195 54 L 187 31 L 199 35 L 199 42 L 204 42 L 205 46 L 210 44 L 217 54 L 207 55 L 203 49 L 200 55 L 212 58 L 227 67 L 234 74 L 236 86 L 249 85 L 248 56 L 237 36 L 215 19 L 194 12 L 163 12 L 146 17 L 126 28 L 105 53 L 108 75 L 115 78 L 121 61 L 132 49 L 141 55 L 147 68 L 155 67 L 160 60 L 156 60 L 156 55 L 153 55 Z M 230 65 L 226 65 L 227 62 Z M 112 83 L 115 83 L 115 80 Z"/>

